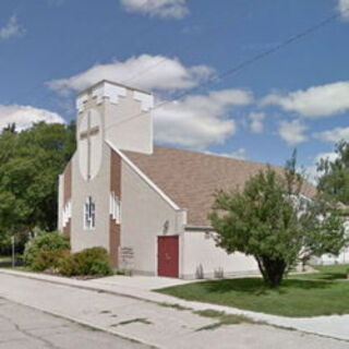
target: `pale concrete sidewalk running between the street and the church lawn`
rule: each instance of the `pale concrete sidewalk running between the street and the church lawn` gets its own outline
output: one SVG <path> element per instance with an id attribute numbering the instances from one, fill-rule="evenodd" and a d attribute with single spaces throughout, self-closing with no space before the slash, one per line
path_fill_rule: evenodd
<path id="1" fill-rule="evenodd" d="M 317 316 L 317 317 L 284 317 L 276 315 L 268 315 L 264 313 L 256 313 L 251 311 L 243 311 L 229 306 L 214 305 L 202 302 L 191 302 L 185 300 L 180 300 L 174 297 L 156 293 L 151 291 L 147 287 L 142 288 L 142 279 L 136 281 L 136 276 L 132 277 L 134 280 L 133 287 L 130 285 L 130 278 L 127 280 L 124 277 L 111 277 L 101 278 L 94 280 L 75 280 L 63 277 L 48 276 L 34 273 L 22 273 L 9 269 L 0 269 L 0 275 L 11 275 L 22 278 L 37 279 L 46 282 L 52 282 L 56 285 L 64 285 L 74 288 L 81 288 L 85 290 L 94 290 L 99 292 L 107 292 L 115 296 L 122 296 L 128 298 L 133 298 L 137 300 L 143 300 L 147 302 L 155 303 L 167 303 L 167 304 L 178 304 L 183 308 L 190 308 L 194 311 L 200 310 L 216 310 L 222 311 L 227 314 L 244 315 L 256 322 L 265 322 L 270 325 L 276 325 L 286 328 L 293 328 L 304 333 L 316 334 L 326 337 L 333 337 L 337 339 L 349 340 L 349 315 L 332 315 L 332 316 Z M 156 278 L 151 282 L 153 286 L 157 282 L 164 285 L 166 280 L 156 280 Z M 168 282 L 188 282 L 177 279 L 168 279 Z"/>

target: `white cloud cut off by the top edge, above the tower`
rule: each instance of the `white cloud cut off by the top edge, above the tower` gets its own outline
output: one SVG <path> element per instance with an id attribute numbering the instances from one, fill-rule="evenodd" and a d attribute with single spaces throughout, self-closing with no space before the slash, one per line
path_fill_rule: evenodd
<path id="1" fill-rule="evenodd" d="M 179 20 L 189 13 L 186 0 L 120 0 L 120 3 L 129 12 L 152 17 Z"/>

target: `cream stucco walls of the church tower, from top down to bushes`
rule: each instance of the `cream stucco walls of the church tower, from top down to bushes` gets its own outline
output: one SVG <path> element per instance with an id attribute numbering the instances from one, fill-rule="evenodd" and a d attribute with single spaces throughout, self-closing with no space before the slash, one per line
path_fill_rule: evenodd
<path id="1" fill-rule="evenodd" d="M 72 160 L 72 222 L 71 244 L 73 251 L 92 246 L 104 246 L 109 251 L 109 197 L 110 197 L 110 146 L 149 153 L 153 149 L 152 118 L 142 110 L 142 101 L 134 98 L 134 91 L 100 83 L 84 92 L 77 98 L 77 152 Z M 97 111 L 99 132 L 92 136 L 92 180 L 84 179 L 82 168 L 86 168 L 87 147 L 80 139 L 86 125 L 82 122 L 89 110 Z M 144 111 L 142 118 L 125 119 Z M 92 124 L 94 127 L 95 124 Z M 98 141 L 98 142 L 97 142 Z M 96 144 L 96 142 L 98 144 Z M 101 152 L 101 160 L 100 160 Z M 82 163 L 82 164 L 80 164 Z M 98 166 L 99 165 L 99 166 Z M 95 176 L 96 174 L 96 176 Z M 96 204 L 96 227 L 84 229 L 84 204 L 92 196 Z M 125 219 L 127 221 L 127 219 Z M 143 221 L 143 225 L 145 222 Z"/>

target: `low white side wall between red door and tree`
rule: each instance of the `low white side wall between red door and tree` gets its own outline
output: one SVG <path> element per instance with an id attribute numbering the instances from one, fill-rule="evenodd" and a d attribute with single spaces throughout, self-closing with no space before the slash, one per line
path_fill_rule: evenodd
<path id="1" fill-rule="evenodd" d="M 258 267 L 253 257 L 242 253 L 227 254 L 217 248 L 213 233 L 202 231 L 185 231 L 181 234 L 180 246 L 182 251 L 181 277 L 186 279 L 217 276 L 222 270 L 224 276 L 239 274 L 258 274 Z"/>

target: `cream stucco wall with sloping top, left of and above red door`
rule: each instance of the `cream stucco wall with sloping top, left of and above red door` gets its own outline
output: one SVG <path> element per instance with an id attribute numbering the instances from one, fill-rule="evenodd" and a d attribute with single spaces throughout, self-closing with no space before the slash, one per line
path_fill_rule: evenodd
<path id="1" fill-rule="evenodd" d="M 134 251 L 134 270 L 157 274 L 157 237 L 183 229 L 183 214 L 176 210 L 124 160 L 121 169 L 121 246 Z"/>

